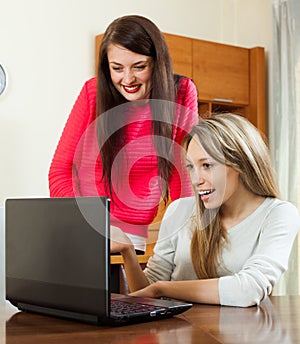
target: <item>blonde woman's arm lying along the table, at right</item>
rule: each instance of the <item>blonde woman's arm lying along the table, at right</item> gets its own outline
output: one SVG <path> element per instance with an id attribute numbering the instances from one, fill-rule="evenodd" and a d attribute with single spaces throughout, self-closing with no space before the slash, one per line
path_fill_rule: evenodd
<path id="1" fill-rule="evenodd" d="M 232 245 L 228 249 L 228 255 L 234 263 L 226 267 L 230 270 L 240 265 L 238 272 L 223 272 L 222 277 L 207 280 L 192 280 L 192 276 L 188 276 L 189 280 L 186 281 L 180 281 L 180 276 L 176 276 L 176 281 L 162 281 L 158 279 L 159 276 L 156 278 L 153 274 L 156 278 L 153 284 L 133 295 L 165 296 L 190 302 L 238 307 L 259 305 L 271 293 L 282 272 L 286 270 L 292 244 L 299 229 L 298 212 L 287 203 L 282 202 L 269 212 L 263 209 L 262 213 L 265 216 L 263 220 L 253 221 L 252 218 L 251 221 L 255 229 L 258 228 L 257 235 L 249 229 L 249 224 L 248 228 L 243 228 L 243 232 L 248 234 L 249 241 L 254 242 L 251 244 L 249 257 L 245 258 L 243 252 L 247 239 L 245 236 L 242 236 L 239 247 L 236 247 L 237 242 L 231 242 Z M 238 235 L 241 236 L 241 232 Z M 176 250 L 178 249 L 179 244 L 176 246 Z M 227 262 L 228 260 L 224 261 L 225 264 Z M 181 271 L 182 273 L 186 272 Z"/>

